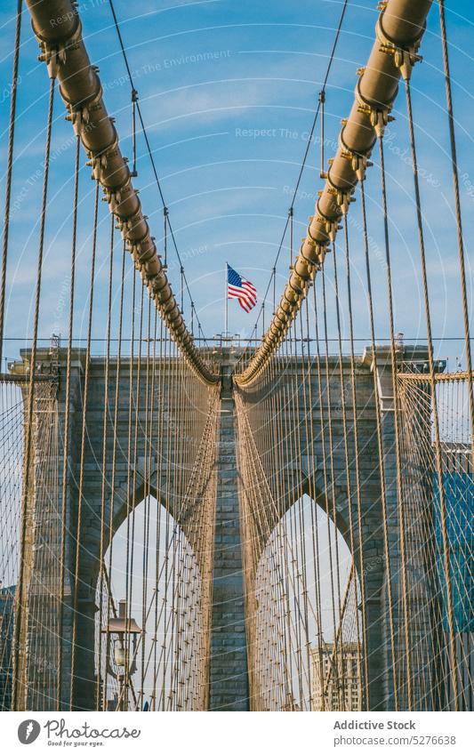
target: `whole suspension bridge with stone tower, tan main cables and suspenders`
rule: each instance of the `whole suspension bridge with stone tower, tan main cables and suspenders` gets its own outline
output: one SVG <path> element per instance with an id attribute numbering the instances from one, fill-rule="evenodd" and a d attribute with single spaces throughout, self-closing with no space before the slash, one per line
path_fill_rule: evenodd
<path id="1" fill-rule="evenodd" d="M 294 245 L 301 176 L 313 170 L 309 139 L 253 333 L 213 338 L 165 204 L 125 30 L 109 5 L 132 92 L 130 159 L 77 4 L 19 0 L 12 39 L 0 281 L 0 707 L 472 710 L 471 290 L 445 3 L 379 4 L 375 31 L 363 30 L 374 35 L 372 50 L 327 155 L 326 85 L 348 7 L 340 4 L 310 131 L 321 135 L 314 214 Z M 434 68 L 422 62 L 427 20 L 446 95 L 439 149 L 449 212 L 440 204 L 435 225 L 456 285 L 455 369 L 452 352 L 442 353 L 448 340 L 439 346 L 433 335 L 432 237 L 441 230 L 427 228 L 417 155 L 430 124 L 420 90 L 412 96 L 422 68 Z M 28 34 L 39 44 L 47 104 L 40 211 L 18 256 L 17 100 Z M 72 204 L 54 244 L 68 261 L 68 332 L 44 342 L 52 175 L 66 160 L 54 151 L 54 129 L 64 108 Z M 402 223 L 414 229 L 419 302 L 397 277 L 387 149 L 396 108 L 410 170 Z M 139 198 L 139 140 L 159 224 Z M 282 252 L 289 274 L 280 294 Z M 12 322 L 9 308 L 22 275 L 32 281 L 31 332 L 12 354 L 20 317 Z M 403 309 L 422 324 L 416 342 L 398 332 Z"/>

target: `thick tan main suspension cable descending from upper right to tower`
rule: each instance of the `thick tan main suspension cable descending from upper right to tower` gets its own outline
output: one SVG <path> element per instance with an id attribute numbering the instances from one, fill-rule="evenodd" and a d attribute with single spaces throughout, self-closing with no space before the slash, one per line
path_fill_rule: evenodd
<path id="1" fill-rule="evenodd" d="M 238 385 L 250 385 L 268 365 L 308 293 L 309 281 L 321 269 L 341 218 L 349 211 L 354 190 L 365 178 L 377 137 L 391 119 L 400 76 L 410 76 L 420 60 L 417 51 L 431 3 L 432 0 L 388 0 L 381 4 L 374 47 L 366 68 L 358 69 L 354 104 L 349 117 L 342 121 L 340 146 L 329 161 L 315 215 L 309 218 L 307 236 L 261 346 L 245 370 L 235 377 Z M 298 289 L 301 293 L 297 293 Z"/>

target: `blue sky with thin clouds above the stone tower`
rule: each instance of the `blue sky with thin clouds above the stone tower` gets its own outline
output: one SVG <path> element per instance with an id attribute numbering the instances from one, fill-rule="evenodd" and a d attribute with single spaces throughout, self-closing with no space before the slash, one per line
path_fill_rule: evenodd
<path id="1" fill-rule="evenodd" d="M 451 11 L 451 6 L 455 12 Z M 260 294 L 266 288 L 281 237 L 290 197 L 307 144 L 309 127 L 321 88 L 334 30 L 341 13 L 340 0 L 313 0 L 293 4 L 277 0 L 231 3 L 211 2 L 125 3 L 116 0 L 116 13 L 142 113 L 157 162 L 173 229 L 185 261 L 193 300 L 206 335 L 223 326 L 223 271 L 225 261 L 252 280 Z M 106 0 L 84 0 L 79 6 L 84 38 L 93 63 L 100 67 L 104 97 L 116 127 L 122 151 L 131 155 L 130 86 Z M 349 112 L 356 69 L 364 65 L 374 39 L 375 3 L 350 2 L 326 95 L 325 135 L 335 141 L 341 117 Z M 468 275 L 474 213 L 474 157 L 471 120 L 474 60 L 470 40 L 474 11 L 468 2 L 447 3 L 447 23 L 454 79 L 454 107 L 460 170 Z M 14 22 L 2 9 L 0 65 L 4 90 L 0 97 L 0 159 L 4 174 L 10 107 Z M 438 11 L 430 13 L 422 44 L 424 61 L 414 71 L 414 117 L 422 203 L 425 213 L 433 332 L 438 337 L 462 336 L 460 285 L 449 169 L 445 92 L 438 38 Z M 7 334 L 24 338 L 31 333 L 32 297 L 36 278 L 37 220 L 41 200 L 41 164 L 47 76 L 37 61 L 37 45 L 28 12 L 22 29 L 18 128 L 12 189 L 12 230 L 9 261 Z M 387 173 L 390 237 L 396 329 L 408 338 L 423 340 L 424 313 L 415 228 L 413 178 L 408 156 L 405 95 L 400 92 L 396 121 L 387 133 Z M 64 121 L 60 97 L 54 110 L 50 206 L 46 229 L 44 288 L 40 332 L 67 334 L 68 265 L 72 207 L 74 140 Z M 333 147 L 325 149 L 331 157 Z M 82 159 L 79 211 L 79 254 L 75 336 L 85 335 L 85 308 L 90 267 L 93 184 Z M 385 271 L 380 263 L 383 237 L 380 211 L 378 158 L 366 181 L 370 234 L 374 239 L 374 293 L 376 330 L 387 337 Z M 162 210 L 141 134 L 138 134 L 138 178 L 144 212 L 162 245 Z M 313 213 L 319 179 L 319 145 L 312 144 L 294 207 L 295 245 L 304 235 Z M 351 255 L 353 261 L 356 334 L 369 336 L 363 253 L 358 230 L 359 203 L 352 205 Z M 100 260 L 94 335 L 105 334 L 108 276 L 109 220 L 101 205 Z M 118 235 L 117 235 L 118 241 Z M 117 245 L 117 250 L 119 245 Z M 342 250 L 340 250 L 340 253 Z M 115 290 L 118 293 L 118 254 Z M 277 268 L 277 292 L 288 274 L 287 245 Z M 329 260 L 330 261 L 330 260 Z M 169 256 L 170 278 L 179 291 L 179 266 Z M 343 265 L 341 253 L 341 266 Z M 130 286 L 132 266 L 127 265 Z M 341 268 L 342 269 L 342 268 Z M 328 279 L 332 275 L 328 266 Z M 330 281 L 329 281 L 330 282 Z M 470 299 L 472 289 L 470 288 Z M 259 302 L 259 306 L 260 306 Z M 117 306 L 115 302 L 114 306 Z M 269 302 L 267 312 L 271 309 Z M 330 335 L 336 334 L 333 296 L 330 296 Z M 248 336 L 255 312 L 247 315 L 229 301 L 229 328 Z M 344 334 L 347 317 L 342 312 Z M 185 305 L 189 319 L 189 305 Z M 12 341 L 7 357 L 16 357 L 20 341 Z M 362 344 L 361 344 L 362 346 Z M 97 346 L 100 350 L 100 346 Z M 440 357 L 462 356 L 462 344 L 445 341 Z"/>

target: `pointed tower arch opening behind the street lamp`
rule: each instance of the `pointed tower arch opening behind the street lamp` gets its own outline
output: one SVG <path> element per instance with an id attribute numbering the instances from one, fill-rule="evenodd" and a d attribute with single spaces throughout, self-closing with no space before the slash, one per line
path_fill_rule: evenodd
<path id="1" fill-rule="evenodd" d="M 205 594 L 197 556 L 153 495 L 116 530 L 96 591 L 98 707 L 202 710 Z"/>

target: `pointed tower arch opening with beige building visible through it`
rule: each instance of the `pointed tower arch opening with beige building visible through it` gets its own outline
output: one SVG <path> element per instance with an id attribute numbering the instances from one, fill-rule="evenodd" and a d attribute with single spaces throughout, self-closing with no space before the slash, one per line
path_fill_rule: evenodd
<path id="1" fill-rule="evenodd" d="M 247 604 L 254 710 L 363 710 L 357 570 L 341 530 L 309 495 L 265 543 Z"/>

